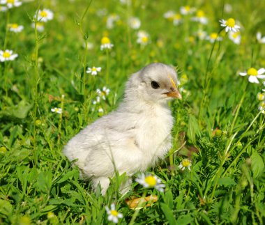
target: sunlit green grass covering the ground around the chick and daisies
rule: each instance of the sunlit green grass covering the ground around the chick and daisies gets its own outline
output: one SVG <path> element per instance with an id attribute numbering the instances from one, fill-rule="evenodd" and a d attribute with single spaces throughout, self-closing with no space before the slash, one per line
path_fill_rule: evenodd
<path id="1" fill-rule="evenodd" d="M 167 21 L 163 14 L 178 12 L 185 5 L 181 1 L 135 0 L 131 6 L 92 1 L 90 7 L 81 0 L 32 1 L 0 12 L 1 49 L 19 54 L 0 64 L 1 224 L 107 224 L 105 205 L 111 203 L 123 214 L 120 224 L 135 216 L 135 224 L 265 223 L 265 117 L 256 97 L 264 86 L 239 76 L 250 67 L 265 67 L 265 45 L 256 40 L 257 31 L 265 36 L 265 2 L 225 1 L 231 13 L 223 10 L 223 1 L 185 3 L 204 10 L 209 24 L 192 22 L 190 16 L 179 26 Z M 54 19 L 41 33 L 31 22 L 43 8 L 52 10 Z M 98 16 L 103 8 L 107 14 Z M 111 13 L 120 20 L 107 29 Z M 130 16 L 141 20 L 140 29 L 151 38 L 148 45 L 137 44 L 137 31 L 126 23 Z M 240 22 L 240 45 L 223 31 L 221 42 L 195 36 L 199 28 L 220 32 L 218 20 L 229 17 Z M 8 20 L 24 30 L 8 32 Z M 109 52 L 100 51 L 106 35 L 114 44 Z M 86 42 L 93 49 L 86 51 Z M 182 101 L 171 102 L 173 148 L 149 169 L 165 183 L 165 192 L 134 182 L 119 196 L 123 176 L 118 176 L 101 196 L 100 189 L 94 193 L 79 179 L 61 150 L 79 130 L 115 109 L 130 74 L 153 62 L 176 66 L 185 89 Z M 84 73 L 93 65 L 102 67 L 95 77 Z M 95 106 L 96 88 L 103 86 L 110 93 Z M 52 113 L 54 107 L 63 114 Z M 178 169 L 185 158 L 192 160 L 191 171 Z M 136 215 L 125 200 L 143 194 L 155 194 L 158 201 Z"/>

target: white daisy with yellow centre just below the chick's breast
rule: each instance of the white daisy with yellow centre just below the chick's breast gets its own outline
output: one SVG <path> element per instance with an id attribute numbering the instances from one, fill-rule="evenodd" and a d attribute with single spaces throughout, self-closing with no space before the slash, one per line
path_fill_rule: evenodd
<path id="1" fill-rule="evenodd" d="M 135 179 L 140 185 L 143 185 L 144 187 L 151 187 L 156 188 L 159 192 L 164 192 L 165 185 L 161 183 L 160 178 L 158 178 L 156 175 L 144 175 L 142 173 L 138 178 Z"/>

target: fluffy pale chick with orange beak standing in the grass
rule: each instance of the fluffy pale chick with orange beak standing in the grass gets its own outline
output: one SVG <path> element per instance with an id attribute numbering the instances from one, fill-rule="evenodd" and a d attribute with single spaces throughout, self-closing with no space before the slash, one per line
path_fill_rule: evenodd
<path id="1" fill-rule="evenodd" d="M 63 153 L 76 160 L 83 178 L 100 183 L 102 194 L 115 170 L 132 176 L 145 171 L 172 146 L 173 118 L 167 100 L 181 98 L 176 72 L 152 63 L 131 75 L 116 111 L 98 119 L 67 143 Z M 126 185 L 126 190 L 130 180 Z M 124 190 L 121 192 L 124 192 Z"/>

